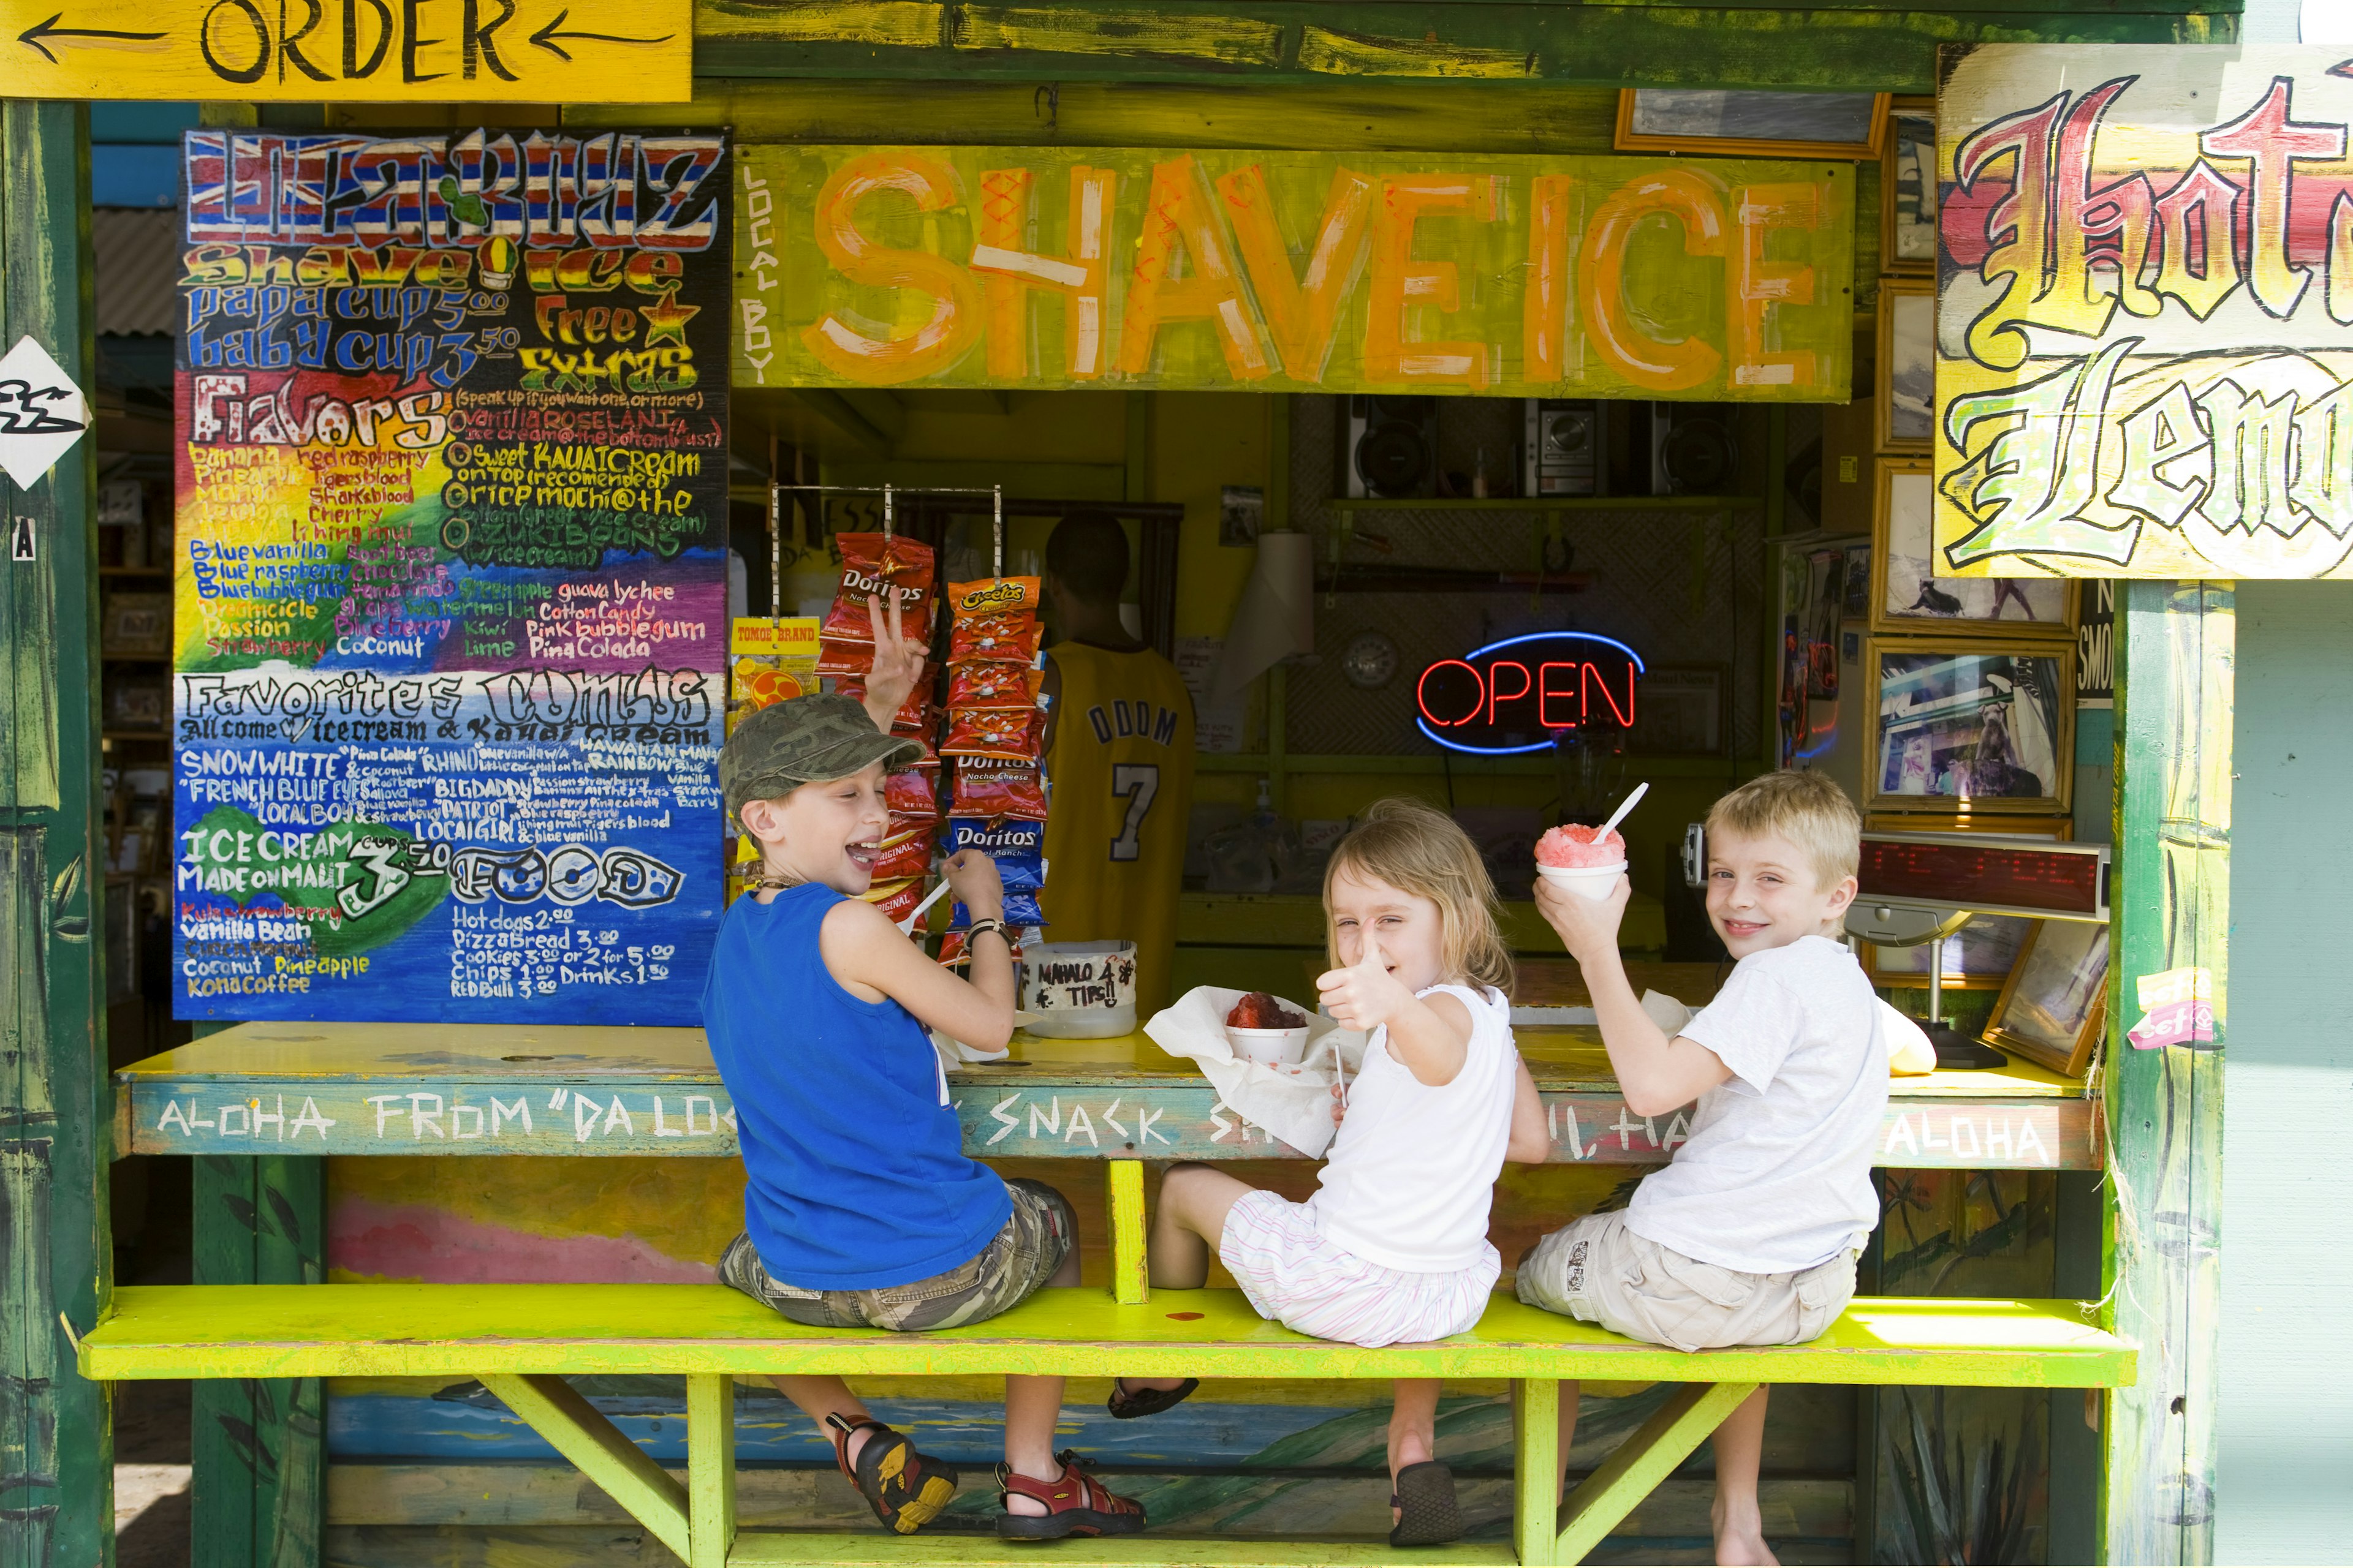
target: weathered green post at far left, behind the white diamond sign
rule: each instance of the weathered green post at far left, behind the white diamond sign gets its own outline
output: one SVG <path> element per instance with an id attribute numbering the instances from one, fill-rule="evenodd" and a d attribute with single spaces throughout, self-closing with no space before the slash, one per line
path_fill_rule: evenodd
<path id="1" fill-rule="evenodd" d="M 0 101 L 0 353 L 31 336 L 89 397 L 89 110 Z M 94 491 L 89 435 L 0 477 L 0 1568 L 113 1561 L 108 1403 L 68 1338 L 113 1293 Z"/>

